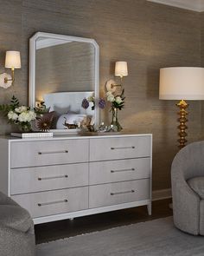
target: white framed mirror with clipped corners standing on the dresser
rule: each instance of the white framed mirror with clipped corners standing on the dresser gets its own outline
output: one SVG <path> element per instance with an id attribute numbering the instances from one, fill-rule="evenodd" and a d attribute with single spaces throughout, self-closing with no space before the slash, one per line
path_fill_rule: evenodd
<path id="1" fill-rule="evenodd" d="M 99 124 L 99 108 L 82 108 L 84 98 L 99 100 L 99 46 L 90 38 L 37 32 L 29 40 L 29 106 L 45 102 L 55 111 L 54 132 L 67 114 L 92 116 Z M 62 118 L 63 117 L 63 118 Z M 79 117 L 79 116 L 78 116 Z M 78 118 L 76 117 L 76 118 Z"/>

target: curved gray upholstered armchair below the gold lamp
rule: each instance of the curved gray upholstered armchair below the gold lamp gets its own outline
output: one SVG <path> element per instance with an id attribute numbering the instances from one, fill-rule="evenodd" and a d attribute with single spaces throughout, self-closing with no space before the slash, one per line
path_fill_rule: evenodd
<path id="1" fill-rule="evenodd" d="M 175 155 L 171 182 L 175 226 L 204 235 L 204 141 L 191 143 Z"/>

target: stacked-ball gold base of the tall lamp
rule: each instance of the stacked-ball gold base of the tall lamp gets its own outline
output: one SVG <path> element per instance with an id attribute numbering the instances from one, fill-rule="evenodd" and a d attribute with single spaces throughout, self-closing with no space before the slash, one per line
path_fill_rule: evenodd
<path id="1" fill-rule="evenodd" d="M 188 135 L 186 132 L 186 129 L 188 128 L 188 126 L 186 125 L 186 122 L 188 121 L 188 119 L 186 118 L 186 116 L 188 115 L 188 111 L 186 110 L 188 108 L 188 103 L 185 101 L 181 101 L 179 103 L 176 104 L 176 106 L 179 109 L 179 112 L 177 112 L 177 114 L 179 115 L 179 118 L 177 119 L 177 121 L 180 123 L 179 126 L 177 126 L 177 128 L 179 129 L 179 139 L 177 140 L 179 142 L 178 148 L 183 148 L 186 146 L 186 136 Z"/>

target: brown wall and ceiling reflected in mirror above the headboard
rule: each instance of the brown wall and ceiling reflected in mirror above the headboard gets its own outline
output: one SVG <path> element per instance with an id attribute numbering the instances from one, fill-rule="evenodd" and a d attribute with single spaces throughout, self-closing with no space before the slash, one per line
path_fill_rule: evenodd
<path id="1" fill-rule="evenodd" d="M 52 38 L 36 41 L 36 101 L 42 95 L 94 90 L 94 47 L 91 43 Z"/>

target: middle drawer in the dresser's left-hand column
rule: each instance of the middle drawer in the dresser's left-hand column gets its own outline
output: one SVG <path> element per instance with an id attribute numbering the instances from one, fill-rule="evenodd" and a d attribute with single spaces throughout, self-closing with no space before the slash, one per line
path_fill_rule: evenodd
<path id="1" fill-rule="evenodd" d="M 88 163 L 11 169 L 11 194 L 88 185 Z"/>

